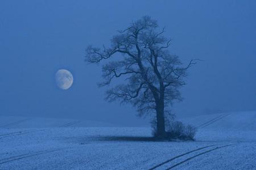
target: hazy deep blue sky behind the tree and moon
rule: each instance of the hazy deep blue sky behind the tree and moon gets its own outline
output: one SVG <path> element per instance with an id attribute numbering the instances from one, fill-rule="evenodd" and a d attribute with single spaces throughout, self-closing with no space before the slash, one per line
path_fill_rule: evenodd
<path id="1" fill-rule="evenodd" d="M 0 1 L 0 114 L 148 123 L 129 105 L 104 101 L 101 67 L 86 45 L 108 45 L 143 15 L 166 27 L 170 48 L 189 71 L 179 115 L 256 110 L 256 1 Z M 73 86 L 55 84 L 68 69 Z"/>

